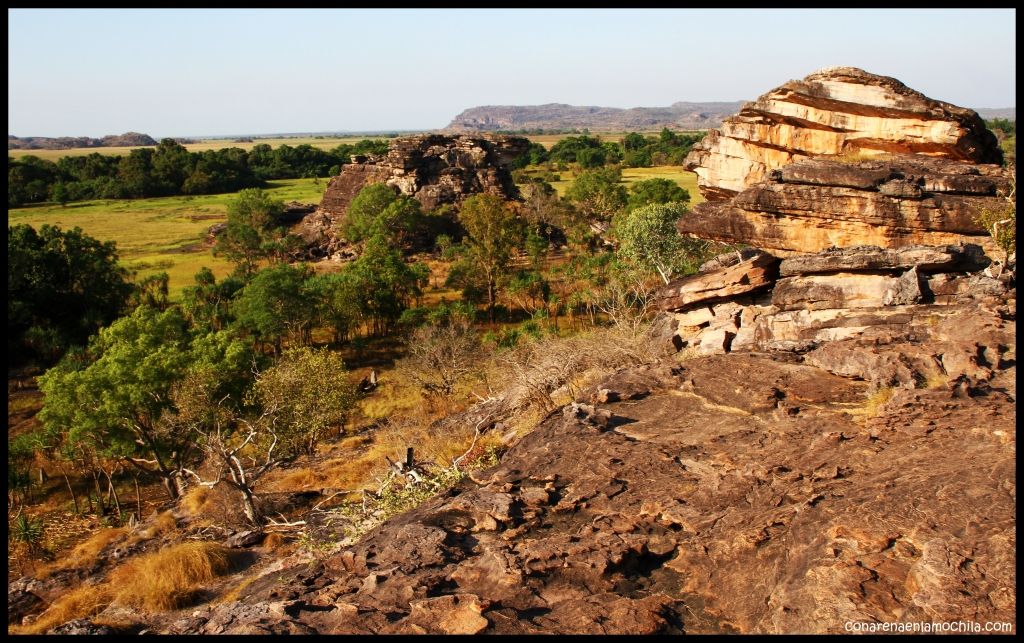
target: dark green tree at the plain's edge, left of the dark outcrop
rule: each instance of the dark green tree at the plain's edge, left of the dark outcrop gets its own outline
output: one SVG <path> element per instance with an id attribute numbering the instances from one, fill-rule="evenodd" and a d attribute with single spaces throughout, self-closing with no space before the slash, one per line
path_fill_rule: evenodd
<path id="1" fill-rule="evenodd" d="M 284 202 L 262 189 L 241 190 L 227 206 L 227 227 L 217 239 L 215 253 L 247 273 L 255 272 L 261 260 L 283 259 L 287 244 L 280 218 L 284 211 Z"/>

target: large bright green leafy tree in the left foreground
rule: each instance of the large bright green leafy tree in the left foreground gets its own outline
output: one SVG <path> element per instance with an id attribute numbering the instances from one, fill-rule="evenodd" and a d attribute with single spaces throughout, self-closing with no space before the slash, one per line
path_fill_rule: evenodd
<path id="1" fill-rule="evenodd" d="M 39 419 L 66 453 L 93 449 L 155 473 L 175 499 L 196 444 L 162 422 L 172 387 L 201 365 L 230 381 L 246 361 L 244 346 L 226 335 L 194 344 L 177 308 L 140 306 L 102 329 L 85 353 L 69 354 L 39 378 Z"/>

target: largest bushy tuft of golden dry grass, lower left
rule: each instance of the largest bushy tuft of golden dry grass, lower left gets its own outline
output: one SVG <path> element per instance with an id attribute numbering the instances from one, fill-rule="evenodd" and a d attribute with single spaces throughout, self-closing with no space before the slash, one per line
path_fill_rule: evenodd
<path id="1" fill-rule="evenodd" d="M 199 586 L 231 569 L 230 550 L 215 543 L 181 543 L 128 561 L 111 574 L 117 600 L 151 611 L 191 603 Z"/>

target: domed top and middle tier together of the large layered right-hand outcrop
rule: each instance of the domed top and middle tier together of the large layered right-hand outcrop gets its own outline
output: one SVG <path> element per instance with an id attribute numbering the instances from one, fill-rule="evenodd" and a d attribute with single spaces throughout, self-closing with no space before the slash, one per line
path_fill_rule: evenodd
<path id="1" fill-rule="evenodd" d="M 748 103 L 687 157 L 708 199 L 683 234 L 775 254 L 979 244 L 1014 177 L 970 110 L 899 81 L 834 68 Z"/>

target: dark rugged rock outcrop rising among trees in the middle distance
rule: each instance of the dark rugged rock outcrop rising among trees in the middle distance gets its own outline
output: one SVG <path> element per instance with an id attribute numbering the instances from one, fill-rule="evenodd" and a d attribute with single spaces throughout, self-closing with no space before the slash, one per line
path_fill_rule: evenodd
<path id="1" fill-rule="evenodd" d="M 331 255 L 343 249 L 338 224 L 352 199 L 370 183 L 387 183 L 430 210 L 458 205 L 477 194 L 514 199 L 518 190 L 509 166 L 529 147 L 517 136 L 446 136 L 429 134 L 391 140 L 388 153 L 358 156 L 343 165 L 328 183 L 315 213 L 295 230 L 314 254 Z"/>

